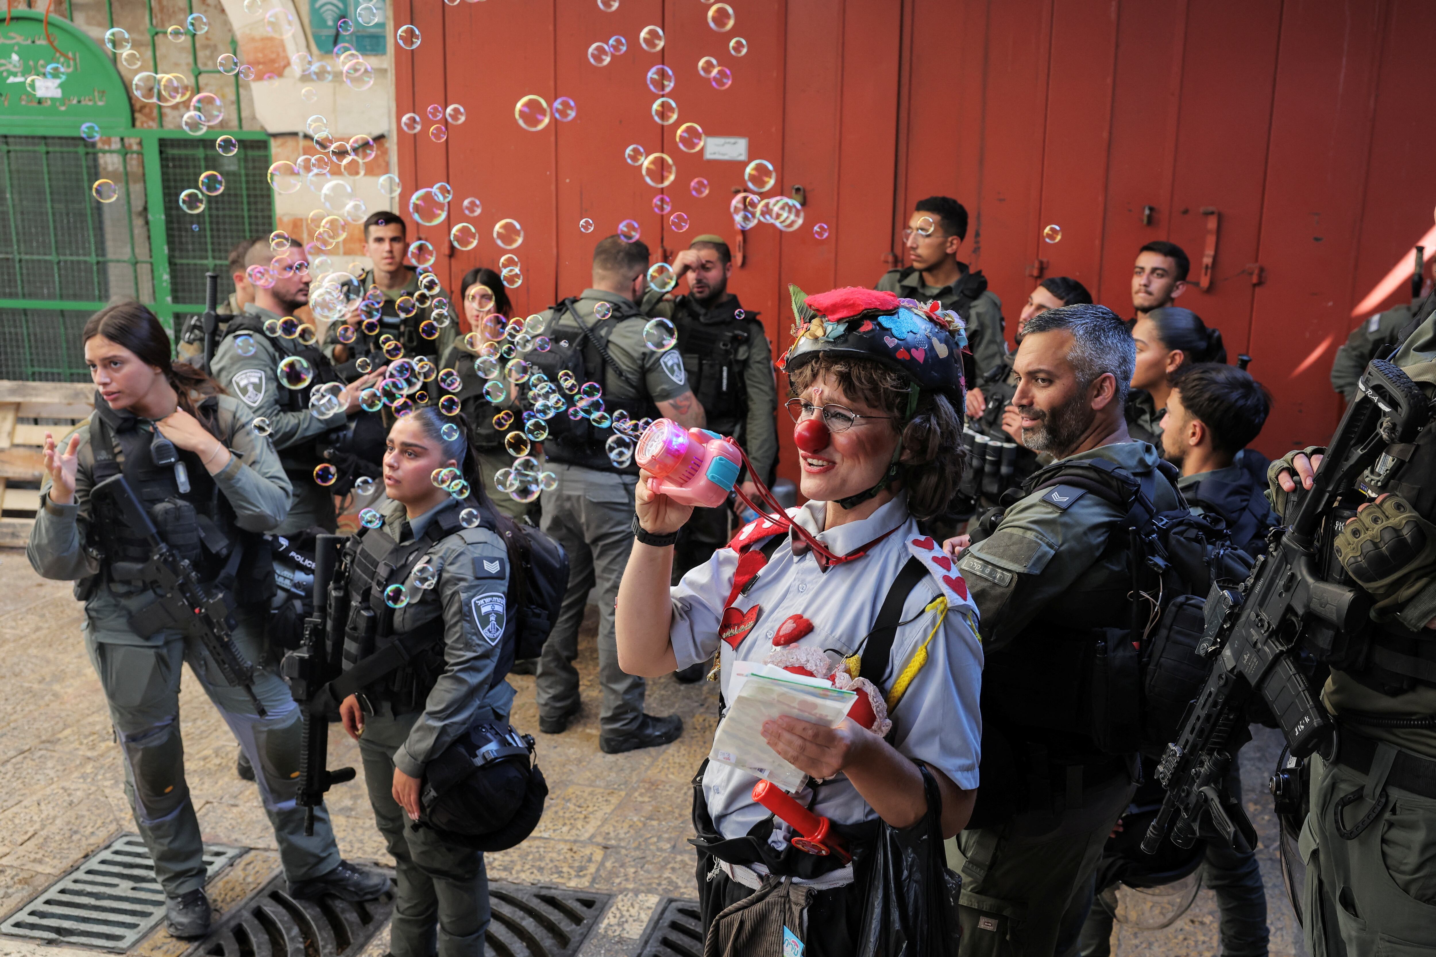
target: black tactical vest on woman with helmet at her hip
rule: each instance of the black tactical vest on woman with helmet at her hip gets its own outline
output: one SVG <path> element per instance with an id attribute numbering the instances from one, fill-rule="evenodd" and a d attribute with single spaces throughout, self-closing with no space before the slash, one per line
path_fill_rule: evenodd
<path id="1" fill-rule="evenodd" d="M 439 511 L 424 535 L 409 542 L 396 542 L 382 528 L 360 529 L 346 544 L 349 580 L 345 583 L 348 595 L 348 618 L 345 621 L 345 647 L 342 656 L 343 677 L 336 683 L 342 690 L 355 682 L 359 693 L 370 703 L 386 700 L 395 713 L 422 710 L 429 692 L 444 673 L 444 605 L 434 600 L 419 600 L 406 605 L 409 616 L 422 608 L 422 620 L 408 631 L 395 633 L 393 613 L 385 601 L 385 590 L 408 581 L 414 567 L 438 542 L 462 529 L 461 505 L 454 504 Z M 514 574 L 510 570 L 510 574 Z M 438 588 L 438 585 L 435 585 Z M 412 590 L 411 590 L 412 593 Z M 467 613 L 467 610 L 465 610 Z M 517 616 L 504 620 L 504 634 L 500 647 L 507 651 L 494 669 L 494 682 L 503 680 L 513 666 L 513 633 Z M 393 667 L 395 661 L 402 661 Z M 376 676 L 368 680 L 368 676 Z"/>

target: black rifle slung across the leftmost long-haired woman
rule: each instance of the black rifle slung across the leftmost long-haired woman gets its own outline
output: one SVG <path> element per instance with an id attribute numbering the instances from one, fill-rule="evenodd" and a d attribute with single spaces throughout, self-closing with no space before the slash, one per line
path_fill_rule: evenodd
<path id="1" fill-rule="evenodd" d="M 264 706 L 254 694 L 254 666 L 234 644 L 234 633 L 230 628 L 231 608 L 224 590 L 207 590 L 194 565 L 159 537 L 159 529 L 135 498 L 123 475 L 112 475 L 99 482 L 90 489 L 90 501 L 98 504 L 109 501 L 119 509 L 129 531 L 149 544 L 151 558 L 144 565 L 125 567 L 128 562 L 115 562 L 112 568 L 116 578 L 144 581 L 158 590 L 159 597 L 155 603 L 129 616 L 131 627 L 139 634 L 154 634 L 159 628 L 172 627 L 197 636 L 224 680 L 243 687 L 254 703 L 254 712 L 264 717 Z"/>

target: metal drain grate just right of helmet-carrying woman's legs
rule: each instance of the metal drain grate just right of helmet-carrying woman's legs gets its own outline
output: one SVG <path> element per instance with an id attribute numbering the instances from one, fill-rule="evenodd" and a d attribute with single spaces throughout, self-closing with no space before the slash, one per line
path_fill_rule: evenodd
<path id="1" fill-rule="evenodd" d="M 494 957 L 570 957 L 579 953 L 610 894 L 527 884 L 490 884 L 494 920 L 485 954 Z"/>

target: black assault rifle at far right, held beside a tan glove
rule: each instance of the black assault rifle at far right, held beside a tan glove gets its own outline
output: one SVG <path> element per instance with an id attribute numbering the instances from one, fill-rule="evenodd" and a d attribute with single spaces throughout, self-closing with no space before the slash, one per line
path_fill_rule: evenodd
<path id="1" fill-rule="evenodd" d="M 1272 531 L 1268 554 L 1256 560 L 1239 588 L 1212 585 L 1206 630 L 1196 649 L 1212 660 L 1212 671 L 1157 765 L 1167 793 L 1142 841 L 1147 854 L 1156 854 L 1169 831 L 1172 842 L 1183 848 L 1212 828 L 1238 851 L 1255 845 L 1256 834 L 1241 802 L 1222 793 L 1231 745 L 1245 742 L 1234 736 L 1245 735 L 1245 704 L 1254 692 L 1271 709 L 1292 756 L 1305 758 L 1333 740 L 1335 722 L 1311 687 L 1300 653 L 1340 659 L 1343 646 L 1366 623 L 1371 600 L 1364 590 L 1323 575 L 1323 552 L 1328 550 L 1323 548 L 1321 524 L 1386 445 L 1409 442 L 1427 419 L 1429 402 L 1406 373 L 1383 359 L 1373 360 L 1311 489 L 1302 492 L 1298 484 L 1288 498 L 1288 525 Z"/>

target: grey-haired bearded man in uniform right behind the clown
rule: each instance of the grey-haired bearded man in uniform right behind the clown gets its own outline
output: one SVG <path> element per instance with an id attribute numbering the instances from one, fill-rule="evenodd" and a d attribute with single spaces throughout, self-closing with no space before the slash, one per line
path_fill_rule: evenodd
<path id="1" fill-rule="evenodd" d="M 1132 334 L 1106 307 L 1066 306 L 1027 323 L 1014 403 L 1027 448 L 1058 461 L 1024 488 L 1080 468 L 1134 479 L 1157 511 L 1176 506 L 1156 449 L 1127 438 L 1123 399 L 1134 362 Z M 1122 509 L 1073 479 L 1014 504 L 958 562 L 987 650 L 987 795 L 979 792 L 956 847 L 964 954 L 1001 946 L 1051 957 L 1073 946 L 1083 910 L 1071 905 L 1087 894 L 1133 792 L 1134 755 L 1097 748 L 1093 733 L 1101 729 L 1077 713 L 1091 676 L 1073 664 L 1088 656 L 1100 628 L 1130 627 L 1124 528 Z"/>

